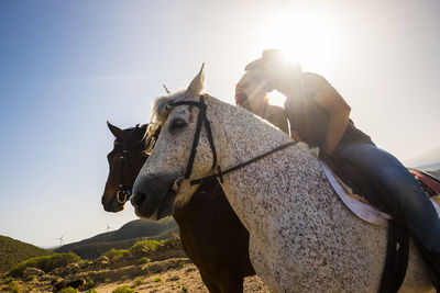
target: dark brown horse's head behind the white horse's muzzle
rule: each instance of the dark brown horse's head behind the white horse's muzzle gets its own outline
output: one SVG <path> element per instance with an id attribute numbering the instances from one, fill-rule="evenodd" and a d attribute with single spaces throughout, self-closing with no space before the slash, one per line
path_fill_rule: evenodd
<path id="1" fill-rule="evenodd" d="M 114 145 L 107 155 L 110 172 L 101 202 L 103 210 L 116 213 L 124 209 L 134 180 L 146 160 L 143 136 L 147 125 L 136 125 L 127 129 L 121 129 L 109 122 L 107 125 L 114 135 Z"/>

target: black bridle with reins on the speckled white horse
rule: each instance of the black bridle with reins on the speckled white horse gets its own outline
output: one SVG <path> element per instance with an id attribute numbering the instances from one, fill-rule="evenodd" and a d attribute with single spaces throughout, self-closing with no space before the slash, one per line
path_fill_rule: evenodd
<path id="1" fill-rule="evenodd" d="M 190 105 L 190 106 L 197 106 L 199 109 L 199 115 L 198 115 L 198 119 L 197 119 L 196 132 L 194 134 L 191 153 L 189 155 L 188 165 L 186 167 L 186 172 L 185 172 L 185 177 L 184 177 L 185 179 L 188 180 L 189 177 L 191 176 L 191 172 L 193 172 L 194 159 L 196 158 L 197 145 L 199 144 L 200 131 L 201 131 L 201 125 L 202 124 L 205 124 L 205 127 L 207 129 L 208 140 L 209 140 L 209 145 L 210 145 L 210 148 L 211 148 L 211 151 L 212 151 L 212 167 L 211 167 L 211 170 L 215 169 L 216 166 L 217 166 L 217 151 L 216 151 L 216 146 L 213 144 L 211 126 L 209 124 L 209 120 L 206 116 L 207 104 L 205 103 L 205 97 L 201 94 L 199 97 L 199 101 L 198 102 L 197 101 L 178 101 L 178 102 L 175 102 L 175 103 L 170 104 L 172 108 L 178 106 L 178 105 Z M 220 182 L 223 183 L 224 182 L 224 180 L 223 180 L 223 176 L 224 174 L 230 173 L 232 171 L 235 171 L 235 170 L 238 170 L 240 168 L 243 168 L 243 167 L 245 167 L 248 165 L 251 165 L 251 164 L 253 164 L 253 162 L 255 162 L 255 161 L 257 161 L 257 160 L 260 160 L 260 159 L 262 159 L 262 158 L 264 158 L 266 156 L 270 156 L 270 155 L 272 155 L 272 154 L 274 154 L 274 153 L 276 153 L 278 150 L 285 149 L 285 148 L 287 148 L 289 146 L 293 146 L 295 144 L 297 144 L 297 143 L 296 142 L 290 142 L 290 143 L 280 145 L 280 146 L 278 146 L 278 147 L 276 147 L 276 148 L 274 148 L 272 150 L 268 150 L 268 151 L 266 151 L 266 153 L 264 153 L 264 154 L 262 154 L 262 155 L 260 155 L 260 156 L 257 156 L 257 157 L 255 157 L 253 159 L 250 159 L 250 160 L 248 160 L 245 162 L 242 162 L 242 164 L 240 164 L 238 166 L 228 168 L 224 171 L 221 170 L 220 166 L 217 166 L 217 173 L 213 173 L 213 174 L 210 174 L 210 176 L 207 176 L 207 177 L 202 177 L 202 178 L 199 178 L 199 179 L 190 180 L 190 184 L 191 185 L 200 184 L 204 181 L 206 181 L 208 179 L 213 179 L 213 178 L 219 178 Z M 180 179 L 182 178 L 177 179 L 176 181 L 178 181 Z"/>

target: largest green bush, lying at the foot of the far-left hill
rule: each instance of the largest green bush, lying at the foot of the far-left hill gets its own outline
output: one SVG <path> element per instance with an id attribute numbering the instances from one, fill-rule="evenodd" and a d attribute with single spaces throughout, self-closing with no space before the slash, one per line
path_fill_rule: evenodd
<path id="1" fill-rule="evenodd" d="M 16 264 L 9 273 L 10 277 L 21 278 L 25 268 L 37 268 L 44 272 L 51 272 L 56 268 L 65 267 L 69 263 L 79 262 L 81 259 L 74 252 L 54 253 L 30 258 Z"/>

